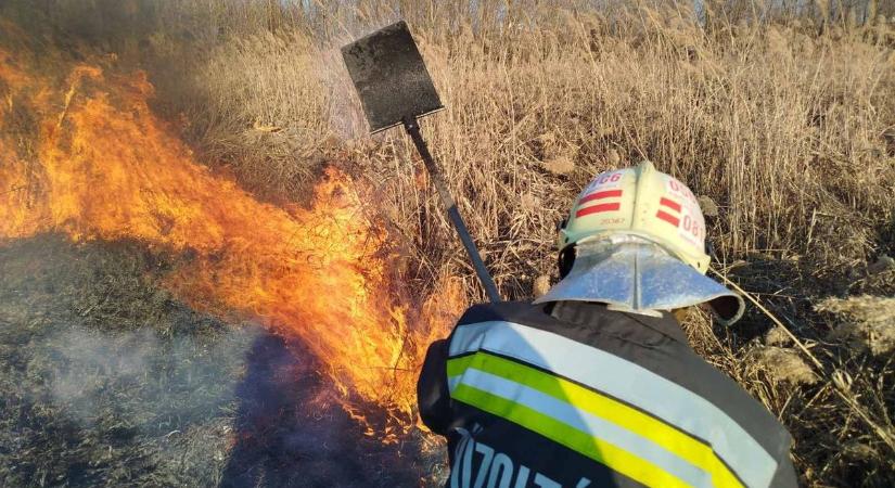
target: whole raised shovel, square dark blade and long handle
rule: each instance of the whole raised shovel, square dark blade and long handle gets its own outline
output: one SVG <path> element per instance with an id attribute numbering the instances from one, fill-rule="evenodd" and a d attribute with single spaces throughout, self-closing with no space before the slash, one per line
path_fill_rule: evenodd
<path id="1" fill-rule="evenodd" d="M 491 301 L 500 301 L 497 286 L 485 268 L 478 248 L 460 217 L 457 203 L 420 132 L 417 119 L 440 111 L 444 105 L 407 24 L 400 21 L 343 47 L 342 57 L 360 97 L 370 132 L 376 133 L 404 125 L 423 158 L 485 293 Z"/>

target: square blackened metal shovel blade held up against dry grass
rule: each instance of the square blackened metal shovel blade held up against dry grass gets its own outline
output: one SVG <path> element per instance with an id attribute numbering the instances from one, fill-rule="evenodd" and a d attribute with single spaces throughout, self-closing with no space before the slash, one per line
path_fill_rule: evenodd
<path id="1" fill-rule="evenodd" d="M 444 108 L 404 21 L 342 48 L 370 132 Z"/>

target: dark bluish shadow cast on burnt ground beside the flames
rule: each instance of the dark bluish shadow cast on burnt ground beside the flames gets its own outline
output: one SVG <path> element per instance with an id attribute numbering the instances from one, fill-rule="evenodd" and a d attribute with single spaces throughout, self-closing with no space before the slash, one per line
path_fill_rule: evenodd
<path id="1" fill-rule="evenodd" d="M 419 485 L 412 447 L 361 435 L 302 357 L 279 336 L 255 341 L 236 387 L 238 441 L 221 486 Z"/>

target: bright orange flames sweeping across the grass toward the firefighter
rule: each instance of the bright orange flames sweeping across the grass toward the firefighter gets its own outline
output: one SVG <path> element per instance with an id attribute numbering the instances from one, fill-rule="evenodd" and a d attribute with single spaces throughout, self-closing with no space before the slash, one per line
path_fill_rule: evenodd
<path id="1" fill-rule="evenodd" d="M 396 298 L 387 234 L 346 175 L 327 170 L 307 209 L 258 202 L 194 162 L 150 111 L 152 93 L 143 73 L 85 64 L 60 88 L 0 51 L 0 239 L 62 231 L 188 256 L 166 279 L 177 296 L 299 337 L 343 398 L 409 425 L 421 355 L 461 294 L 424 307 L 435 323 L 417 320 Z M 21 114 L 35 144 L 16 139 Z"/>

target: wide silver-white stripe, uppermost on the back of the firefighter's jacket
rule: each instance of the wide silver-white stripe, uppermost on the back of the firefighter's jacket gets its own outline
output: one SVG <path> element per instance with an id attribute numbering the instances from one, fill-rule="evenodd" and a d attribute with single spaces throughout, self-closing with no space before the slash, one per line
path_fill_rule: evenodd
<path id="1" fill-rule="evenodd" d="M 513 322 L 488 321 L 456 329 L 451 357 L 482 349 L 612 395 L 705 440 L 747 486 L 768 486 L 777 470 L 777 461 L 712 402 L 623 358 Z"/>

